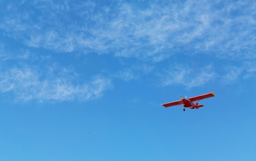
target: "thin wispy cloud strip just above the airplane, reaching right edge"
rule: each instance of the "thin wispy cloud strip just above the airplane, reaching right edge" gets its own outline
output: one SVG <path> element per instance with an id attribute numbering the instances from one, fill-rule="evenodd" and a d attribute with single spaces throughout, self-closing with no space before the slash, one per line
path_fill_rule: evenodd
<path id="1" fill-rule="evenodd" d="M 188 67 L 185 64 L 174 65 L 168 71 L 159 74 L 163 86 L 182 84 L 188 88 L 202 86 L 207 82 L 220 84 L 235 84 L 242 79 L 256 78 L 256 64 L 252 61 L 240 65 L 222 64 L 220 66 L 201 66 L 200 68 Z M 218 72 L 217 72 L 218 71 Z"/>

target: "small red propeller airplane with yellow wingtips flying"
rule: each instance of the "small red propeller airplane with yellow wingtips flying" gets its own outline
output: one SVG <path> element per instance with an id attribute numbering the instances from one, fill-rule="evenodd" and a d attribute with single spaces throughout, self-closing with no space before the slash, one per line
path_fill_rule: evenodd
<path id="1" fill-rule="evenodd" d="M 199 100 L 206 99 L 206 98 L 209 98 L 209 97 L 214 97 L 214 96 L 215 95 L 212 92 L 212 93 L 207 93 L 207 94 L 204 94 L 204 95 L 199 95 L 199 96 L 191 97 L 189 99 L 181 98 L 181 100 L 179 100 L 179 101 L 169 102 L 169 103 L 162 104 L 162 105 L 164 107 L 171 107 L 171 106 L 176 106 L 176 105 L 181 106 L 181 104 L 183 104 L 183 106 L 184 106 L 183 110 L 184 111 L 185 111 L 185 108 L 198 109 L 198 108 L 204 106 L 202 104 L 198 105 L 198 101 Z M 194 103 L 194 101 L 196 101 L 196 102 Z"/>

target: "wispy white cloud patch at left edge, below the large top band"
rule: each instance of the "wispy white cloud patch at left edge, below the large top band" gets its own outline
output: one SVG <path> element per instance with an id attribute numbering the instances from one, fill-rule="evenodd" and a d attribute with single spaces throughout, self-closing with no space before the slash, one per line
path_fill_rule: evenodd
<path id="1" fill-rule="evenodd" d="M 16 100 L 24 101 L 88 100 L 101 97 L 103 91 L 112 86 L 110 79 L 103 77 L 95 77 L 90 82 L 77 84 L 67 76 L 46 76 L 45 73 L 38 73 L 38 70 L 29 67 L 12 68 L 1 73 L 0 92 L 13 93 Z"/>

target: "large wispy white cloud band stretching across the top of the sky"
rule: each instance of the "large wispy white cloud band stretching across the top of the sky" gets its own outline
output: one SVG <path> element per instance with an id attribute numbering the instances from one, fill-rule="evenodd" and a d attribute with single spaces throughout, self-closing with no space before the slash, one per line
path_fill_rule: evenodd
<path id="1" fill-rule="evenodd" d="M 0 28 L 28 46 L 54 51 L 96 51 L 155 62 L 180 49 L 184 54 L 254 57 L 255 2 L 141 3 L 8 2 L 2 5 Z"/>

